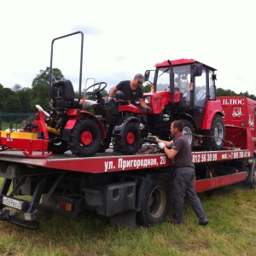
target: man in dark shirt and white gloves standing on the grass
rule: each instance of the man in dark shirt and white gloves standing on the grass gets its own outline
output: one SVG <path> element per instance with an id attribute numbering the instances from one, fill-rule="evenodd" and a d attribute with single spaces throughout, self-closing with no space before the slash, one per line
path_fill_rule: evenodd
<path id="1" fill-rule="evenodd" d="M 207 225 L 207 215 L 201 206 L 200 199 L 195 194 L 195 165 L 192 161 L 189 141 L 183 135 L 183 122 L 181 120 L 172 122 L 171 132 L 175 137 L 173 141 L 166 142 L 157 139 L 157 142 L 159 143 L 159 147 L 164 149 L 166 156 L 175 160 L 172 188 L 173 223 L 183 223 L 183 201 L 184 196 L 187 195 L 189 203 L 199 219 L 199 224 Z"/>

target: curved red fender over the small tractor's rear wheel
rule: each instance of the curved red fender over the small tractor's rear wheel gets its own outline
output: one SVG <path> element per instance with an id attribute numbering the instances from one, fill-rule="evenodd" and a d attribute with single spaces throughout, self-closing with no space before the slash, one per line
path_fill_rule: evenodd
<path id="1" fill-rule="evenodd" d="M 89 113 L 87 111 L 81 111 L 81 114 L 79 116 L 76 116 L 73 119 L 69 119 L 67 121 L 67 124 L 65 125 L 65 128 L 63 131 L 62 140 L 69 141 L 70 133 L 73 130 L 74 125 L 76 125 L 79 119 L 83 119 L 83 118 L 88 118 L 95 121 L 101 130 L 102 139 L 106 137 L 106 132 L 104 130 L 104 127 L 100 119 L 96 118 L 96 116 L 93 115 L 92 113 Z"/>

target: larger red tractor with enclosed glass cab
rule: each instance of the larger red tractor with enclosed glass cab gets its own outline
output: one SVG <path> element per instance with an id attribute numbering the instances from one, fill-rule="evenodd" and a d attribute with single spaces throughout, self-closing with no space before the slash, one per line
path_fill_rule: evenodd
<path id="1" fill-rule="evenodd" d="M 147 114 L 148 132 L 168 140 L 172 121 L 182 119 L 191 147 L 223 148 L 224 113 L 216 99 L 215 71 L 192 59 L 157 63 L 154 76 L 146 71 L 145 80 L 152 84 L 151 93 L 144 94 L 152 108 Z"/>

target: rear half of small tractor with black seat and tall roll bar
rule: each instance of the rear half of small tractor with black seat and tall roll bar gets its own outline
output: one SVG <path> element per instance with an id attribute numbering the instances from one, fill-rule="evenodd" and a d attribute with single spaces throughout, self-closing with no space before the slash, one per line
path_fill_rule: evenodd
<path id="1" fill-rule="evenodd" d="M 61 79 L 54 83 L 51 81 L 55 40 L 76 34 L 81 35 L 79 99 L 75 99 L 73 84 L 70 80 Z M 33 124 L 28 124 L 25 128 L 26 131 L 38 132 L 38 138 L 47 141 L 47 150 L 53 154 L 63 154 L 67 150 L 71 150 L 77 156 L 90 156 L 96 154 L 102 140 L 106 137 L 102 122 L 95 115 L 82 109 L 83 47 L 84 34 L 82 32 L 74 32 L 52 40 L 49 69 L 49 105 L 51 110 L 47 112 L 48 114 L 46 113 L 45 120 L 34 121 Z M 104 86 L 106 87 L 107 84 L 104 84 Z M 40 123 L 43 123 L 43 125 L 40 125 Z M 44 131 L 44 125 L 46 126 L 46 131 Z"/>

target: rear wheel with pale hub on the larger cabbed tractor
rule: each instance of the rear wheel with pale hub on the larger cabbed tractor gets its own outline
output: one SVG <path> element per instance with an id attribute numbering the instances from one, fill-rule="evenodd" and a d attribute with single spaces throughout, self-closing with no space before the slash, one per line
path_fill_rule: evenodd
<path id="1" fill-rule="evenodd" d="M 212 128 L 204 133 L 203 145 L 212 150 L 220 150 L 224 146 L 224 120 L 219 114 L 212 119 Z"/>

